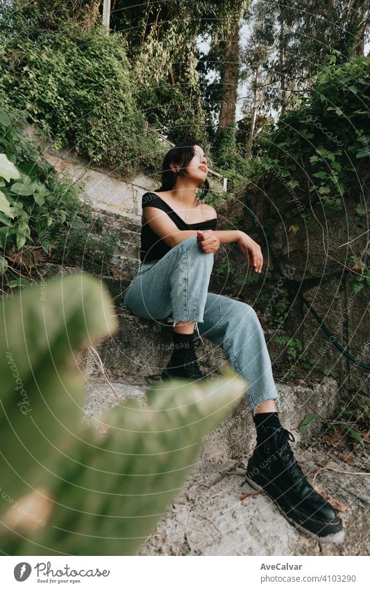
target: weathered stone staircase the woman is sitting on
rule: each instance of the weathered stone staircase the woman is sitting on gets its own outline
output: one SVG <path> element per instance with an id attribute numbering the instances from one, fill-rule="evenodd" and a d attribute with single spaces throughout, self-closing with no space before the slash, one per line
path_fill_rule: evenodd
<path id="1" fill-rule="evenodd" d="M 87 347 L 76 359 L 86 381 L 85 420 L 128 397 L 137 398 L 145 407 L 145 392 L 158 380 L 171 354 L 171 325 L 133 316 L 122 299 L 139 265 L 140 216 L 101 208 L 94 209 L 93 215 L 94 219 L 99 216 L 103 220 L 102 235 L 114 230 L 119 233 L 111 265 L 114 276 L 99 277 L 110 290 L 117 307 L 119 329 L 94 345 L 94 349 Z M 91 231 L 95 231 L 94 224 Z M 44 263 L 41 270 L 47 278 L 81 269 Z M 274 343 L 276 333 L 264 332 L 273 370 L 282 354 L 282 349 Z M 217 377 L 226 363 L 221 347 L 205 341 L 197 354 L 203 371 Z M 327 418 L 337 403 L 338 384 L 330 377 L 310 386 L 278 381 L 276 386 L 280 393 L 280 419 L 294 433 L 296 441 L 303 442 L 319 432 L 320 423 L 314 422 L 304 434 L 299 434 L 298 425 L 308 413 L 316 411 L 321 418 Z M 364 555 L 367 541 L 363 538 L 359 541 L 359 535 L 367 530 L 363 501 L 367 493 L 366 478 L 358 478 L 362 489 L 354 493 L 354 476 L 347 477 L 347 491 L 340 473 L 328 470 L 318 477 L 320 486 L 348 503 L 343 516 L 348 528 L 347 538 L 353 539 L 350 549 L 348 541 L 326 548 L 298 534 L 263 494 L 241 499 L 243 494 L 252 491 L 247 484 L 241 488 L 240 483 L 254 441 L 251 411 L 242 400 L 204 441 L 192 475 L 166 516 L 146 539 L 140 555 L 323 555 L 324 552 L 345 555 L 348 551 L 348 555 Z M 297 448 L 296 455 L 306 473 L 323 464 L 334 464 L 338 468 L 333 458 L 328 458 L 320 448 Z M 348 472 L 351 470 L 355 469 L 348 466 Z"/>

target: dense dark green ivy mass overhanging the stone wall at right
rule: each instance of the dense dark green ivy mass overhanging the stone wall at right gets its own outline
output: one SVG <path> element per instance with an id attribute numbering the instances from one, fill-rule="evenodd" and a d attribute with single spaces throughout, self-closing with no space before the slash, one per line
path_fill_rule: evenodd
<path id="1" fill-rule="evenodd" d="M 347 195 L 366 192 L 369 65 L 362 56 L 323 67 L 310 95 L 260 138 L 274 163 L 269 192 L 275 200 L 291 188 L 307 203 L 318 199 L 330 215 L 342 210 Z"/>

